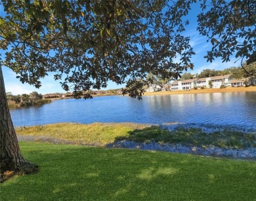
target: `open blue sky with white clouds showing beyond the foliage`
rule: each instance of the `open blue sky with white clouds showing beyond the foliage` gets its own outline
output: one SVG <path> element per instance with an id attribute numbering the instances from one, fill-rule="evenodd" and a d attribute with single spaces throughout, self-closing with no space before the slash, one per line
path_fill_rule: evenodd
<path id="1" fill-rule="evenodd" d="M 200 73 L 203 69 L 222 70 L 226 69 L 227 67 L 239 66 L 240 62 L 235 63 L 235 58 L 230 58 L 230 62 L 225 63 L 222 63 L 219 58 L 215 58 L 215 60 L 212 63 L 206 62 L 206 59 L 203 58 L 203 56 L 206 55 L 207 50 L 211 50 L 211 43 L 207 43 L 207 38 L 203 37 L 198 33 L 198 31 L 196 31 L 196 15 L 198 14 L 199 9 L 199 5 L 194 5 L 194 7 L 192 7 L 192 10 L 190 10 L 190 14 L 188 15 L 190 24 L 186 27 L 185 35 L 190 37 L 190 45 L 192 45 L 194 52 L 196 52 L 196 55 L 194 55 L 191 59 L 191 62 L 194 64 L 194 69 L 188 70 L 187 72 L 196 74 Z M 3 14 L 2 8 L 0 8 L 0 14 Z M 3 52 L 1 53 L 1 55 L 3 56 Z M 175 62 L 179 61 L 177 60 Z M 55 92 L 66 93 L 66 91 L 64 91 L 60 86 L 59 81 L 54 81 L 54 73 L 49 73 L 49 76 L 45 77 L 44 79 L 41 79 L 41 88 L 35 88 L 30 84 L 22 84 L 22 82 L 20 82 L 19 79 L 16 79 L 16 73 L 14 73 L 8 67 L 2 66 L 2 69 L 5 81 L 5 91 L 11 92 L 13 95 L 30 94 L 34 91 L 38 92 L 39 94 L 49 94 Z M 117 85 L 114 82 L 108 82 L 108 87 L 106 88 L 106 90 L 122 87 L 125 87 L 125 84 Z"/>

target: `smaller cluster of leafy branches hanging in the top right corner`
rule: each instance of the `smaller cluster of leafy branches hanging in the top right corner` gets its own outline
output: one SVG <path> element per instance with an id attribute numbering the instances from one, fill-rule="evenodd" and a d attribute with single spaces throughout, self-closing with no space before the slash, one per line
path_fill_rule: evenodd
<path id="1" fill-rule="evenodd" d="M 255 57 L 256 4 L 255 1 L 203 0 L 198 16 L 198 31 L 208 37 L 212 48 L 207 61 L 220 57 L 223 62 L 236 58 Z M 241 62 L 242 63 L 242 62 Z"/>

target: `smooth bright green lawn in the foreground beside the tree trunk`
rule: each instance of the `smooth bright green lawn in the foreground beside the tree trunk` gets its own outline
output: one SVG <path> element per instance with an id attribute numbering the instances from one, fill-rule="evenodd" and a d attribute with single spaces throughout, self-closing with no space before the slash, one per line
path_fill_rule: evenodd
<path id="1" fill-rule="evenodd" d="M 159 151 L 21 142 L 37 174 L 1 200 L 255 200 L 256 162 Z"/>

